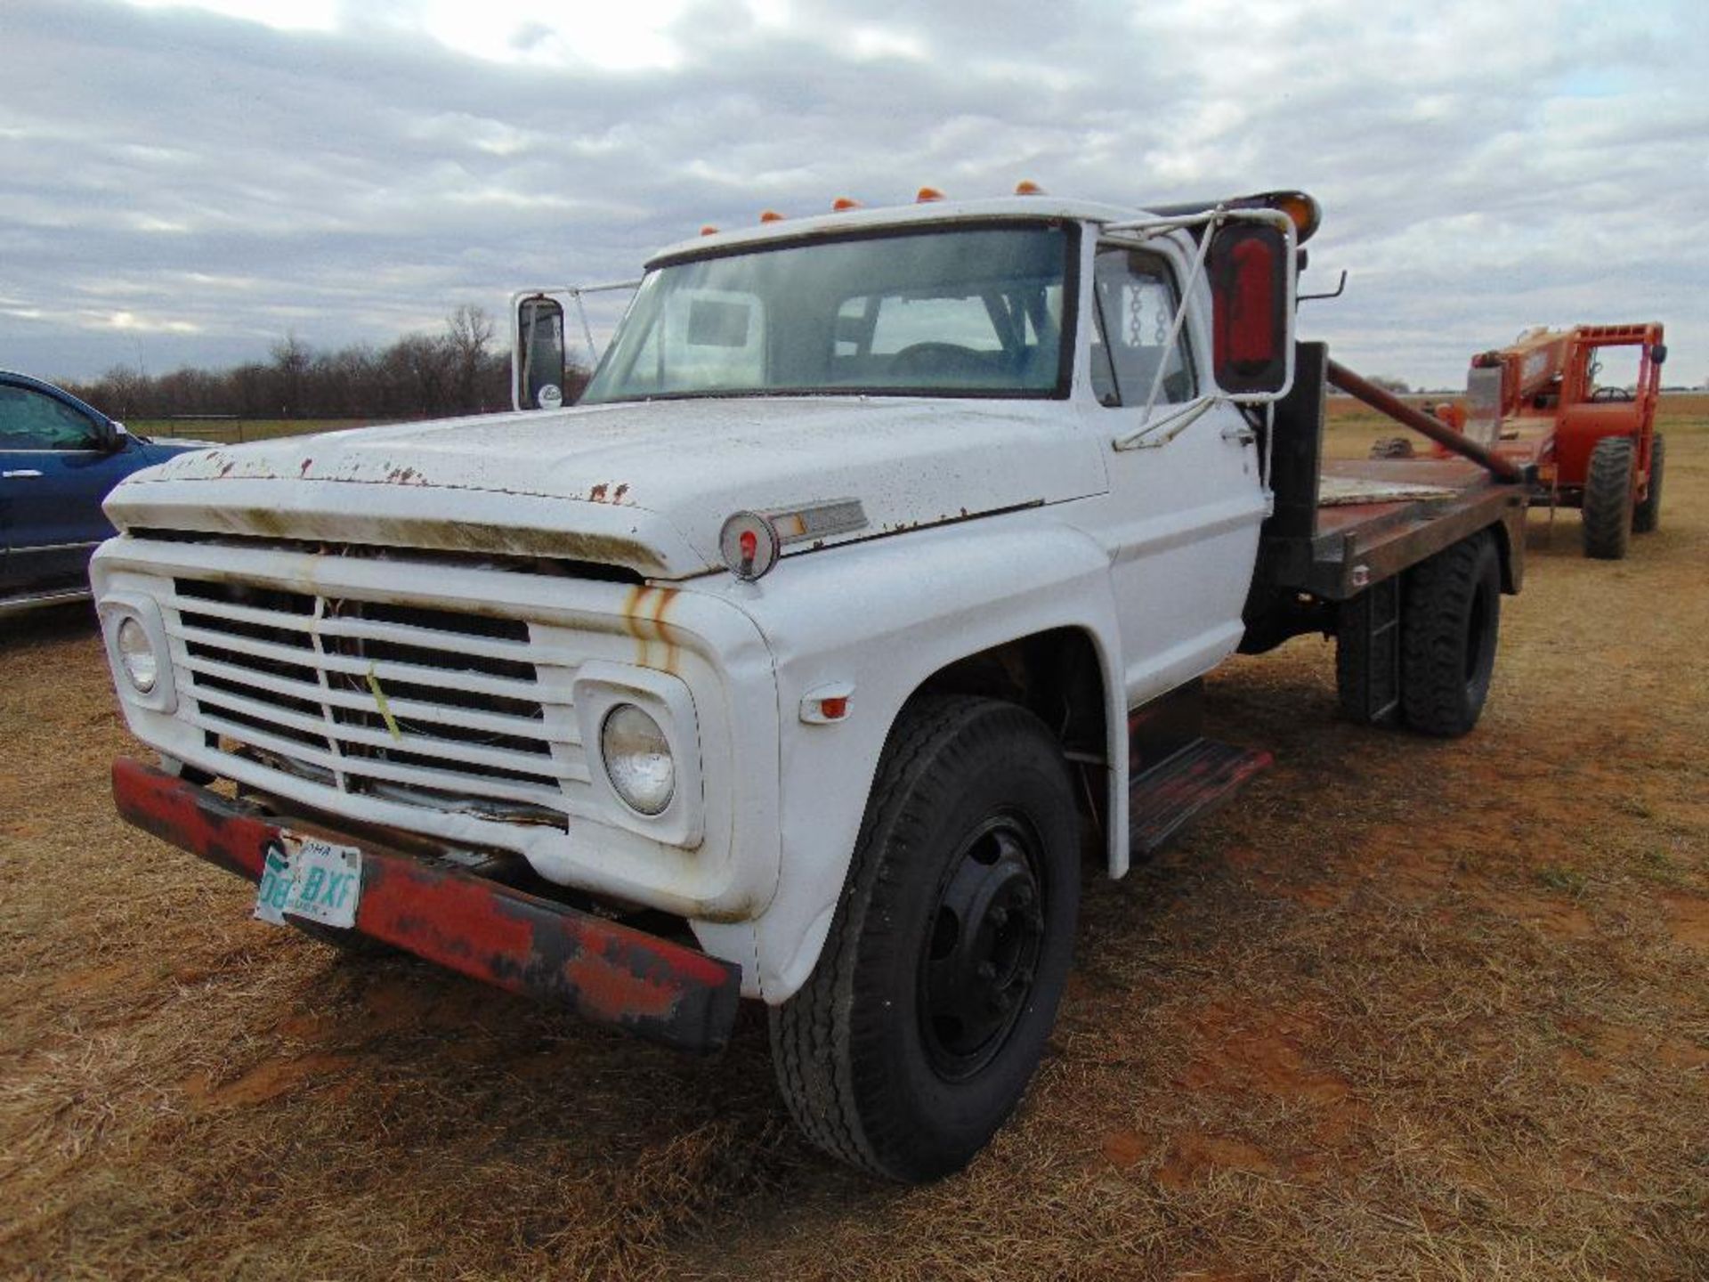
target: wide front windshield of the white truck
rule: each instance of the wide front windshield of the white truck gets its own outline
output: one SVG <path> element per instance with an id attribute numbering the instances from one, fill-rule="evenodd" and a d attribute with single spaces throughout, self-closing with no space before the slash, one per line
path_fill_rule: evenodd
<path id="1" fill-rule="evenodd" d="M 646 275 L 581 403 L 1066 391 L 1060 226 L 755 248 Z"/>

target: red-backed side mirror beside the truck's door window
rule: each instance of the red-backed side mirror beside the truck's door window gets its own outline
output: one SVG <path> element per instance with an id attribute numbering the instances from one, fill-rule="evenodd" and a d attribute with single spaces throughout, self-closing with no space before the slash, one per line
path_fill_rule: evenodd
<path id="1" fill-rule="evenodd" d="M 1210 244 L 1215 378 L 1232 397 L 1287 390 L 1294 352 L 1289 265 L 1287 236 L 1270 224 L 1230 222 Z"/>

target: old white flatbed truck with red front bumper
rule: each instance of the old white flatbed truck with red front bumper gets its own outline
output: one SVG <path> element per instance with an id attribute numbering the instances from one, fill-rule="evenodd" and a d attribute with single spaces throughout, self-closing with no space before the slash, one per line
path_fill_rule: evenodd
<path id="1" fill-rule="evenodd" d="M 1359 381 L 1294 338 L 1314 224 L 769 221 L 655 256 L 573 407 L 528 292 L 513 414 L 144 472 L 92 567 L 161 757 L 118 807 L 258 916 L 678 1048 L 764 1002 L 817 1145 L 954 1171 L 1037 1065 L 1084 844 L 1119 877 L 1268 761 L 1201 735 L 1207 672 L 1335 632 L 1360 721 L 1483 706 L 1524 485 L 1321 465 Z"/>

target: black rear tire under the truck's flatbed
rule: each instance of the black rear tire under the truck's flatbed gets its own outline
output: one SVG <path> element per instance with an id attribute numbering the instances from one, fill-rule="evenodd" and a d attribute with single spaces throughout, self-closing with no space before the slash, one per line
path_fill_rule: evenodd
<path id="1" fill-rule="evenodd" d="M 1501 632 L 1501 554 L 1487 530 L 1412 567 L 1400 634 L 1401 715 L 1424 735 L 1463 735 L 1483 715 Z"/>

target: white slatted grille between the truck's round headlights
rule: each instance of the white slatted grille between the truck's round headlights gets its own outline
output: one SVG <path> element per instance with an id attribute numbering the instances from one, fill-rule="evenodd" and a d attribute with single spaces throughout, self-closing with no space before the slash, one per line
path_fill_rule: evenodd
<path id="1" fill-rule="evenodd" d="M 567 790 L 588 783 L 567 684 L 540 682 L 521 619 L 193 578 L 162 605 L 179 715 L 226 752 L 345 793 L 559 827 Z"/>

